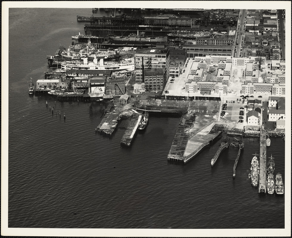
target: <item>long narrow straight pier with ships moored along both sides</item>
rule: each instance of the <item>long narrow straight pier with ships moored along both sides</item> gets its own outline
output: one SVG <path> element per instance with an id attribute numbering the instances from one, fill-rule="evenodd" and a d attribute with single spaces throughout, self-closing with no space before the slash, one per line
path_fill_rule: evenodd
<path id="1" fill-rule="evenodd" d="M 266 167 L 267 167 L 267 147 L 266 130 L 260 128 L 260 174 L 259 174 L 259 193 L 266 193 Z"/>

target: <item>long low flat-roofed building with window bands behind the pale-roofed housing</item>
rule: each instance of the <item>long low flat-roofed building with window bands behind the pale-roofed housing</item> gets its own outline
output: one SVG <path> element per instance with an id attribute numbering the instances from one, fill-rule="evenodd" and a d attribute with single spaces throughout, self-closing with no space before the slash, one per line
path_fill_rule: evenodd
<path id="1" fill-rule="evenodd" d="M 183 45 L 183 49 L 187 50 L 187 57 L 205 57 L 207 55 L 231 56 L 232 46 L 210 46 L 210 45 Z M 219 61 L 218 61 L 219 62 Z M 217 63 L 218 63 L 217 62 Z"/>

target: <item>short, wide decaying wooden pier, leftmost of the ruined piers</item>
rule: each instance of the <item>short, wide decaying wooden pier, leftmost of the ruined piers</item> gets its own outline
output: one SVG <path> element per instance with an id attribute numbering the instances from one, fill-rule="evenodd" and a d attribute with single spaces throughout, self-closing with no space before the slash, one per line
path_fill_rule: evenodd
<path id="1" fill-rule="evenodd" d="M 99 133 L 110 136 L 118 126 L 119 120 L 121 120 L 121 115 L 119 114 L 105 115 L 96 129 Z"/>

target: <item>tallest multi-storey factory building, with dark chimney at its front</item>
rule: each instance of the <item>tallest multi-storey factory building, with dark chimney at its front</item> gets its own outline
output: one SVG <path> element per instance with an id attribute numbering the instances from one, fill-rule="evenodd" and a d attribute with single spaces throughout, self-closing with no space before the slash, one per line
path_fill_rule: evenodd
<path id="1" fill-rule="evenodd" d="M 166 81 L 169 78 L 169 68 L 170 57 L 169 49 L 154 49 L 154 48 L 145 48 L 139 49 L 135 57 L 135 66 L 136 66 L 136 82 L 145 82 L 146 91 L 148 90 L 163 90 Z M 156 71 L 153 71 L 155 70 Z M 148 72 L 146 73 L 146 71 Z M 159 73 L 159 83 L 153 83 L 153 76 L 155 73 Z M 147 74 L 147 76 L 146 76 Z M 161 74 L 163 75 L 163 81 L 161 82 Z M 146 80 L 145 77 L 148 77 Z M 151 78 L 152 77 L 152 78 Z M 150 81 L 151 78 L 151 81 Z M 144 81 L 145 80 L 145 81 Z M 156 81 L 156 80 L 155 80 Z M 152 87 L 150 89 L 150 86 Z M 155 88 L 155 89 L 154 89 Z"/>

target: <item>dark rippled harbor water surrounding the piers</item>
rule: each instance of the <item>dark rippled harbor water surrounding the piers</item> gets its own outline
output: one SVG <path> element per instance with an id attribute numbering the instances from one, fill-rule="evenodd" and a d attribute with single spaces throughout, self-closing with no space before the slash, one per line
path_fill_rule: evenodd
<path id="1" fill-rule="evenodd" d="M 121 148 L 129 120 L 111 138 L 95 134 L 105 103 L 28 94 L 29 78 L 44 78 L 46 55 L 84 33 L 76 15 L 91 9 L 9 10 L 8 227 L 284 228 L 285 194 L 259 195 L 248 178 L 257 140 L 244 139 L 232 179 L 237 148 L 211 168 L 220 141 L 186 165 L 167 161 L 180 118 L 150 116 Z M 271 138 L 267 155 L 285 185 L 284 151 L 283 139 Z"/>

